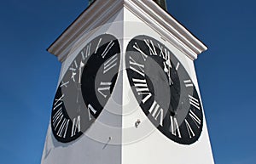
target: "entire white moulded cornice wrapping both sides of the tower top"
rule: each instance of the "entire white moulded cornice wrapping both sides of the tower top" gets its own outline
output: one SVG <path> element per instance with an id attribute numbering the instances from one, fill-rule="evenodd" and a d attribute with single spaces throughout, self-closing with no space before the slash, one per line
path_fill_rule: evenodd
<path id="1" fill-rule="evenodd" d="M 196 59 L 197 54 L 207 50 L 201 41 L 152 0 L 96 0 L 50 45 L 49 53 L 55 54 L 63 61 L 79 37 L 104 25 L 113 14 L 124 7 L 159 32 L 167 41 L 172 42 L 189 58 Z"/>

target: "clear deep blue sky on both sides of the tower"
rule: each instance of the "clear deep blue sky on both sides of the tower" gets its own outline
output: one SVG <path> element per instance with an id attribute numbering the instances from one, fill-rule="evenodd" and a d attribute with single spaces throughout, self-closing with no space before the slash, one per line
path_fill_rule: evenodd
<path id="1" fill-rule="evenodd" d="M 216 164 L 256 161 L 256 2 L 169 0 L 169 12 L 209 48 L 195 61 Z M 50 43 L 86 0 L 0 5 L 1 163 L 40 163 L 61 69 Z"/>

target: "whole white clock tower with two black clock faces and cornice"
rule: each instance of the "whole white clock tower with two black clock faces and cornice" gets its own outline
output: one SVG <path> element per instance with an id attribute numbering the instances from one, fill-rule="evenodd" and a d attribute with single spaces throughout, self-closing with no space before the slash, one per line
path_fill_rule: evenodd
<path id="1" fill-rule="evenodd" d="M 42 164 L 213 164 L 194 60 L 207 47 L 166 1 L 90 1 L 61 62 Z"/>

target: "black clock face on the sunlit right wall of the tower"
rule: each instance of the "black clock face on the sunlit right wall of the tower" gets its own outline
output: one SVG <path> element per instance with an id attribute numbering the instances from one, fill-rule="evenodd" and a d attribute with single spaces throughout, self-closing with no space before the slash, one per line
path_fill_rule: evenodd
<path id="1" fill-rule="evenodd" d="M 163 43 L 147 36 L 133 38 L 125 55 L 132 91 L 150 122 L 179 144 L 195 143 L 201 136 L 203 113 L 182 63 Z"/>

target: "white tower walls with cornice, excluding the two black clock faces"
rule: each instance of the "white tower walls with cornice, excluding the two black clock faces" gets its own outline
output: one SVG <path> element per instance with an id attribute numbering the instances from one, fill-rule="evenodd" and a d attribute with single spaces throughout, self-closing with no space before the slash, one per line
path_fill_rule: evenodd
<path id="1" fill-rule="evenodd" d="M 72 143 L 58 142 L 49 122 L 41 163 L 214 163 L 206 120 L 195 144 L 177 144 L 167 139 L 140 109 L 125 71 L 125 49 L 129 41 L 138 35 L 148 35 L 165 42 L 189 71 L 199 91 L 194 59 L 207 48 L 153 1 L 98 0 L 49 47 L 49 52 L 62 63 L 59 83 L 80 49 L 103 33 L 117 37 L 121 49 L 120 71 L 112 97 L 96 122 Z M 136 127 L 138 119 L 141 123 Z"/>

